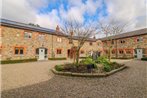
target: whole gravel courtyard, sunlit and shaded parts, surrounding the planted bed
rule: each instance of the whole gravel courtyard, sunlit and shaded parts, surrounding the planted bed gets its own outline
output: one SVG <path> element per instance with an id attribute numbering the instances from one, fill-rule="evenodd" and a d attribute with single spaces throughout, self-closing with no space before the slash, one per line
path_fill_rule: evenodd
<path id="1" fill-rule="evenodd" d="M 116 61 L 128 68 L 105 78 L 58 76 L 50 71 L 71 61 L 2 65 L 2 98 L 146 98 L 147 62 Z"/>

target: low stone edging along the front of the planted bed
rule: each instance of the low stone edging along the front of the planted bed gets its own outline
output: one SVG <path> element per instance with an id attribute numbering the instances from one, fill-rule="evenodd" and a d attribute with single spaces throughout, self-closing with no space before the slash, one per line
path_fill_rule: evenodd
<path id="1" fill-rule="evenodd" d="M 114 69 L 110 72 L 106 72 L 106 73 L 72 73 L 72 72 L 61 72 L 61 71 L 56 71 L 55 68 L 51 69 L 52 72 L 56 75 L 64 75 L 64 76 L 77 76 L 77 77 L 107 77 L 109 75 L 112 75 L 118 71 L 121 71 L 125 68 L 128 68 L 127 66 L 122 66 L 118 69 Z"/>

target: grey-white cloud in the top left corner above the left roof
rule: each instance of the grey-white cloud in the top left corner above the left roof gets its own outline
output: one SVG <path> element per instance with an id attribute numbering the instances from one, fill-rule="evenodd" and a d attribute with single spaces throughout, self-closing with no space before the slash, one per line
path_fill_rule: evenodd
<path id="1" fill-rule="evenodd" d="M 3 0 L 2 18 L 25 23 L 34 22 L 36 11 L 27 0 Z"/>

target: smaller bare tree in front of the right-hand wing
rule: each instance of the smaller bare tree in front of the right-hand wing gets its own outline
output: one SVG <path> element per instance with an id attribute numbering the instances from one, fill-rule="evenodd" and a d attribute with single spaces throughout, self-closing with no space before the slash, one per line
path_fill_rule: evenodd
<path id="1" fill-rule="evenodd" d="M 108 48 L 108 58 L 110 61 L 112 47 L 113 47 L 112 43 L 114 43 L 113 36 L 118 35 L 120 33 L 123 33 L 126 26 L 127 26 L 127 23 L 121 23 L 116 20 L 110 20 L 108 23 L 101 21 L 101 22 L 99 22 L 98 26 L 100 28 L 100 31 L 106 35 L 107 48 Z M 116 41 L 116 49 L 117 49 L 117 41 Z M 116 57 L 117 57 L 117 52 L 116 52 Z"/>

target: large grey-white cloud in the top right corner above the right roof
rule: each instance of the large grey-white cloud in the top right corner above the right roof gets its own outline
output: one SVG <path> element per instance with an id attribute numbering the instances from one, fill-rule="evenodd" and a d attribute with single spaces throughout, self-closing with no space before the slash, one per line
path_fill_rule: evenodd
<path id="1" fill-rule="evenodd" d="M 128 30 L 146 27 L 145 0 L 106 0 L 108 17 L 120 22 L 129 22 Z"/>

